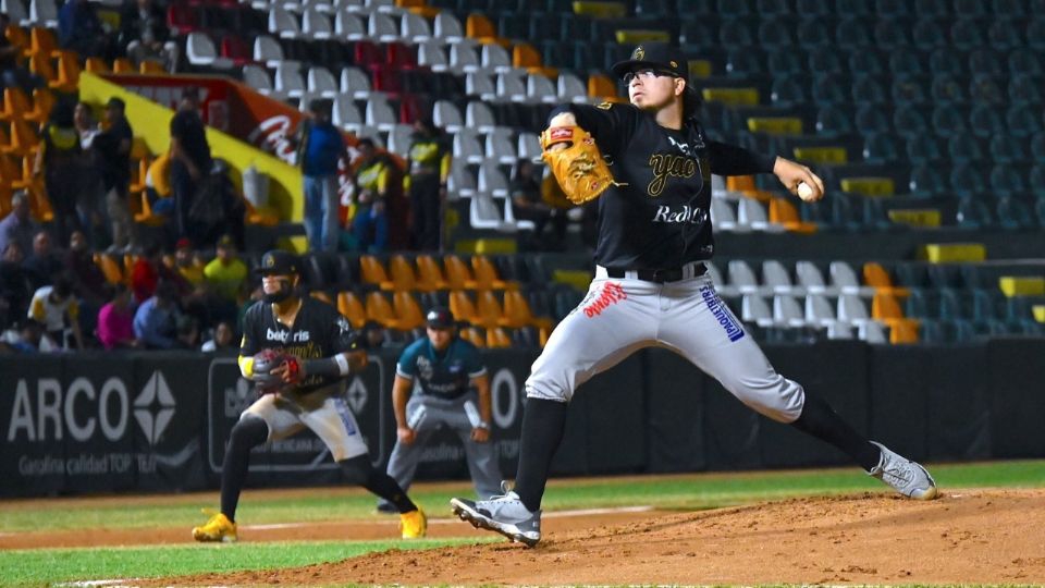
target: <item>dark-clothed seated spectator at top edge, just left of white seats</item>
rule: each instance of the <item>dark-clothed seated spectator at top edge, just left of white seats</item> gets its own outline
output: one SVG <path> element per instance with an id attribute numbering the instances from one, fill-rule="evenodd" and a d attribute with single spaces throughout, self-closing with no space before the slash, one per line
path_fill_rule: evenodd
<path id="1" fill-rule="evenodd" d="M 179 47 L 170 40 L 163 9 L 152 0 L 125 0 L 120 9 L 118 44 L 136 66 L 155 61 L 168 72 L 177 70 Z"/>

